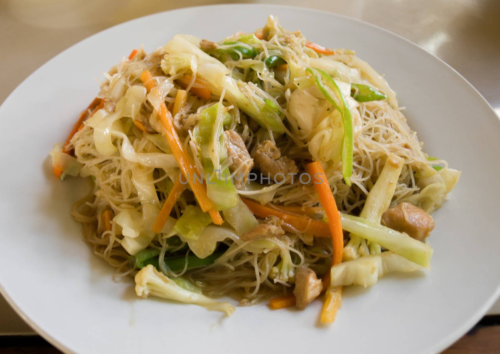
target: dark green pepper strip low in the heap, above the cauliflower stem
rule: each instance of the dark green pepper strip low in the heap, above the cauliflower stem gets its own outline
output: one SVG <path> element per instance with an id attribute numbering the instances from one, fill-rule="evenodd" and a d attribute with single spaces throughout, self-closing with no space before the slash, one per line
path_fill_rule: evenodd
<path id="1" fill-rule="evenodd" d="M 146 248 L 133 256 L 131 260 L 133 260 L 133 265 L 136 268 L 142 269 L 151 264 L 154 268 L 159 269 L 159 253 L 160 250 L 156 248 Z M 187 256 L 187 270 L 209 266 L 210 264 L 213 264 L 217 258 L 222 256 L 223 253 L 224 251 L 214 252 L 203 259 L 196 257 L 194 254 L 189 254 Z M 168 257 L 163 259 L 165 266 L 174 273 L 182 272 L 185 266 L 185 261 L 185 256 Z"/>

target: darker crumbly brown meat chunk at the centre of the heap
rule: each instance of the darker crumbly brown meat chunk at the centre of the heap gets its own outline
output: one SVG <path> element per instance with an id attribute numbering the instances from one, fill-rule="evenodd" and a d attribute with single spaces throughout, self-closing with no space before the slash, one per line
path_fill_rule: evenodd
<path id="1" fill-rule="evenodd" d="M 260 170 L 264 175 L 270 175 L 271 179 L 276 182 L 281 182 L 282 175 L 285 176 L 285 183 L 290 182 L 291 175 L 298 173 L 298 168 L 295 162 L 286 156 L 281 156 L 281 151 L 276 145 L 270 141 L 265 140 L 258 144 L 252 153 L 255 167 Z"/>

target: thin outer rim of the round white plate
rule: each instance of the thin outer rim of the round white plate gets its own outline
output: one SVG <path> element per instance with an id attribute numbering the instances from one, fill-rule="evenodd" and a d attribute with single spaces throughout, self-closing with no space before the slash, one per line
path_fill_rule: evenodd
<path id="1" fill-rule="evenodd" d="M 327 11 L 327 10 L 320 10 L 316 8 L 308 8 L 308 7 L 302 7 L 302 6 L 293 6 L 293 5 L 281 5 L 281 4 L 270 4 L 270 3 L 225 3 L 225 4 L 210 4 L 210 5 L 197 5 L 197 6 L 187 6 L 187 7 L 179 7 L 175 9 L 170 9 L 170 10 L 165 10 L 165 11 L 159 11 L 159 12 L 154 12 L 150 13 L 144 16 L 136 17 L 129 19 L 124 22 L 117 23 L 115 25 L 112 25 L 110 27 L 104 28 L 92 35 L 89 35 L 76 43 L 70 45 L 69 47 L 63 49 L 47 61 L 45 61 L 43 64 L 38 66 L 35 70 L 33 70 L 24 80 L 22 80 L 8 95 L 7 97 L 1 102 L 0 104 L 0 113 L 2 110 L 2 107 L 5 102 L 7 102 L 10 97 L 19 89 L 19 87 L 27 80 L 31 78 L 36 72 L 41 70 L 44 66 L 46 66 L 48 63 L 50 63 L 52 60 L 55 60 L 62 54 L 64 54 L 66 51 L 69 51 L 73 49 L 73 47 L 79 45 L 80 43 L 91 40 L 94 36 L 101 35 L 102 33 L 109 31 L 115 27 L 128 24 L 134 21 L 141 21 L 144 18 L 147 17 L 152 17 L 158 14 L 162 13 L 169 13 L 169 12 L 177 12 L 177 11 L 184 11 L 184 10 L 193 10 L 193 9 L 202 9 L 202 8 L 207 8 L 207 7 L 266 7 L 266 8 L 288 8 L 288 9 L 294 9 L 294 10 L 305 10 L 307 12 L 315 12 L 315 13 L 321 13 L 321 14 L 327 14 L 329 16 L 335 16 L 335 17 L 341 17 L 344 19 L 348 19 L 350 21 L 355 21 L 358 22 L 362 25 L 369 26 L 369 27 L 374 27 L 378 30 L 381 30 L 387 34 L 390 34 L 392 36 L 395 36 L 399 39 L 404 40 L 408 44 L 416 47 L 418 50 L 423 51 L 426 55 L 430 55 L 433 59 L 436 59 L 438 62 L 441 64 L 444 64 L 447 69 L 450 69 L 454 74 L 458 75 L 461 80 L 465 82 L 466 85 L 468 85 L 468 88 L 472 88 L 473 92 L 480 98 L 482 101 L 487 105 L 487 107 L 493 112 L 493 114 L 496 116 L 497 120 L 500 121 L 500 115 L 496 113 L 496 111 L 493 109 L 493 107 L 489 104 L 489 102 L 482 96 L 482 94 L 465 78 L 463 77 L 458 71 L 456 71 L 451 65 L 446 63 L 444 60 L 440 59 L 437 57 L 435 54 L 428 52 L 427 50 L 423 49 L 420 45 L 414 43 L 413 41 L 403 37 L 402 35 L 399 35 L 397 33 L 394 33 L 388 29 L 385 29 L 383 27 L 380 27 L 377 24 L 373 24 L 367 21 L 364 21 L 362 19 L 354 18 L 348 15 L 344 14 L 339 14 L 335 13 L 332 11 Z M 59 343 L 57 340 L 55 340 L 52 336 L 50 336 L 48 333 L 46 333 L 41 327 L 36 325 L 28 316 L 25 314 L 15 303 L 15 301 L 8 295 L 6 290 L 3 288 L 1 282 L 0 282 L 0 294 L 3 296 L 7 304 L 14 310 L 14 312 L 32 329 L 34 330 L 38 335 L 40 335 L 44 340 L 46 340 L 48 343 L 50 343 L 52 346 L 57 348 L 63 353 L 76 353 L 72 351 L 71 349 L 67 348 L 65 345 L 62 343 Z M 500 281 L 496 285 L 495 291 L 489 295 L 487 300 L 475 311 L 475 313 L 470 316 L 470 318 L 462 323 L 455 331 L 451 332 L 448 334 L 446 337 L 442 338 L 441 340 L 435 342 L 433 345 L 431 345 L 427 350 L 429 353 L 440 353 L 441 351 L 445 350 L 449 346 L 451 346 L 453 343 L 455 343 L 461 336 L 463 336 L 468 330 L 470 330 L 483 316 L 484 314 L 488 311 L 488 309 L 494 304 L 496 299 L 500 297 Z M 28 335 L 30 336 L 30 335 Z"/>

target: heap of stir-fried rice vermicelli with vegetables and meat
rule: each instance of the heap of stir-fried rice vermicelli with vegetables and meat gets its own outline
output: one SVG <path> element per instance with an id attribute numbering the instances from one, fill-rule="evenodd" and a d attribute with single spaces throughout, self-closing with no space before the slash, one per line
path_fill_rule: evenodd
<path id="1" fill-rule="evenodd" d="M 149 54 L 132 52 L 105 73 L 75 128 L 52 152 L 54 173 L 94 182 L 71 210 L 94 254 L 116 277 L 135 276 L 137 295 L 228 314 L 228 304 L 206 297 L 249 305 L 285 296 L 283 304 L 304 308 L 326 288 L 372 285 L 373 264 L 378 277 L 428 268 L 430 215 L 459 177 L 422 151 L 380 74 L 273 16 L 255 33 L 219 42 L 176 35 Z M 186 155 L 189 171 L 208 182 L 216 171 L 234 179 L 181 186 L 179 178 L 193 177 L 179 160 Z M 311 161 L 321 163 L 343 213 L 336 265 L 329 231 L 312 228 L 331 230 L 323 209 L 335 206 L 321 206 L 322 192 L 299 179 Z M 165 203 L 176 189 L 180 196 Z M 331 283 L 321 283 L 325 274 Z"/>

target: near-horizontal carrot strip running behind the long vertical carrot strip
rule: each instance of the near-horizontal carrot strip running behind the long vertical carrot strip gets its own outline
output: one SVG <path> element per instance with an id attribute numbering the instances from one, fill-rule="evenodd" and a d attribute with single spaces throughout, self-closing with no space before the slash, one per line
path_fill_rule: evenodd
<path id="1" fill-rule="evenodd" d="M 273 209 L 266 205 L 261 205 L 249 199 L 241 198 L 241 200 L 246 204 L 248 209 L 251 210 L 253 214 L 260 218 L 266 218 L 268 216 L 276 216 L 279 219 L 283 220 L 285 224 L 290 225 L 295 230 L 299 230 L 301 232 L 311 233 L 317 237 L 331 237 L 330 229 L 327 223 L 322 221 L 313 220 L 306 216 L 296 216 L 291 215 L 276 209 Z M 280 208 L 277 206 L 277 208 Z"/>

